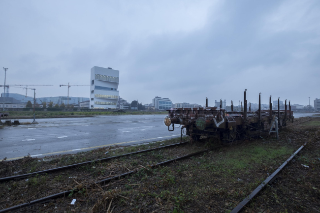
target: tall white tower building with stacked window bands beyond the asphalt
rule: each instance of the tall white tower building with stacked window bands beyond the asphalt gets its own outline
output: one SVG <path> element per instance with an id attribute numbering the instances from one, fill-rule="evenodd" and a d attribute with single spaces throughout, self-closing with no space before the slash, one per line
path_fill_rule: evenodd
<path id="1" fill-rule="evenodd" d="M 119 70 L 91 68 L 90 108 L 116 109 L 119 99 Z"/>

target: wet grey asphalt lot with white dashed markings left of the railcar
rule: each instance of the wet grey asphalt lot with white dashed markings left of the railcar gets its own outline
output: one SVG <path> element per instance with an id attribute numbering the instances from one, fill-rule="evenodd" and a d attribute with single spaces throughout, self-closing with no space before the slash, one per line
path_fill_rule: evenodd
<path id="1" fill-rule="evenodd" d="M 36 119 L 38 124 L 4 127 L 0 129 L 0 159 L 18 159 L 28 154 L 44 157 L 85 152 L 110 145 L 132 145 L 180 137 L 180 128 L 168 131 L 164 117 L 119 115 Z"/>

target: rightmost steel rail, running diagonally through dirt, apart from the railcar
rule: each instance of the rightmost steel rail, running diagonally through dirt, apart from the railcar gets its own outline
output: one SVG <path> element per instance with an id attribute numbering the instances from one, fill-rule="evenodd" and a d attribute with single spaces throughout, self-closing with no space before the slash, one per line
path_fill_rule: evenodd
<path id="1" fill-rule="evenodd" d="M 241 212 L 246 205 L 267 185 L 272 183 L 277 176 L 281 173 L 281 171 L 288 166 L 288 163 L 292 160 L 292 158 L 300 152 L 305 146 L 307 142 L 301 146 L 297 151 L 295 151 L 274 173 L 272 173 L 266 180 L 264 180 L 251 194 L 249 194 L 238 206 L 236 206 L 231 213 L 239 213 Z"/>

